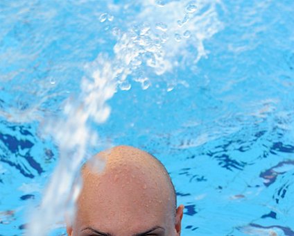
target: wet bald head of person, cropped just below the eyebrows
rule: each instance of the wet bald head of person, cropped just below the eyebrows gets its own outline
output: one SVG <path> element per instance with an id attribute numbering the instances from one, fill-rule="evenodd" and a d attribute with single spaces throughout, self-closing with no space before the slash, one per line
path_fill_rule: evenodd
<path id="1" fill-rule="evenodd" d="M 95 161 L 105 161 L 98 172 Z M 183 205 L 164 166 L 152 155 L 116 146 L 95 155 L 82 169 L 83 189 L 71 236 L 180 235 Z"/>

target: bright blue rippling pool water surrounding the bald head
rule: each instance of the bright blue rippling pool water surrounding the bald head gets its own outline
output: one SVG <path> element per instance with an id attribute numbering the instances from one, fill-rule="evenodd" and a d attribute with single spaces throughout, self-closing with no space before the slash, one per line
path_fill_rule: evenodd
<path id="1" fill-rule="evenodd" d="M 293 26 L 286 0 L 1 1 L 0 235 L 26 232 L 60 159 L 44 127 L 106 60 L 130 73 L 108 119 L 87 122 L 88 155 L 128 144 L 162 160 L 182 235 L 294 235 Z M 123 33 L 137 41 L 118 53 Z"/>

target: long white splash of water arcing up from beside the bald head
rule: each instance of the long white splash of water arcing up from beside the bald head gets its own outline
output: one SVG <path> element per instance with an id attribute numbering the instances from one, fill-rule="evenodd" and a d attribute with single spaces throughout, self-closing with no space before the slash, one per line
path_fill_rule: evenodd
<path id="1" fill-rule="evenodd" d="M 193 62 L 197 62 L 206 55 L 203 40 L 220 28 L 214 1 L 200 1 L 197 8 L 189 1 L 171 1 L 164 4 L 163 8 L 153 1 L 144 1 L 142 4 L 144 10 L 137 15 L 137 26 L 132 24 L 125 31 L 118 27 L 112 28 L 112 34 L 117 39 L 114 56 L 99 54 L 94 62 L 87 65 L 85 70 L 89 71 L 90 76 L 83 78 L 80 95 L 76 99 L 67 100 L 58 119 L 49 119 L 44 124 L 45 132 L 53 134 L 59 146 L 60 162 L 44 192 L 42 203 L 31 215 L 32 224 L 28 226 L 27 235 L 47 235 L 65 212 L 69 212 L 69 217 L 74 214 L 72 206 L 81 187 L 76 185 L 75 194 L 71 194 L 74 178 L 89 146 L 98 143 L 98 135 L 89 129 L 89 122 L 103 123 L 107 120 L 110 115 L 107 101 L 118 89 L 130 90 L 129 76 L 141 83 L 143 89 L 148 88 L 148 73 L 151 72 L 144 71 L 146 68 L 151 68 L 152 73 L 158 76 L 171 73 L 173 67 L 179 64 L 178 57 L 187 53 L 185 48 L 188 44 L 196 44 L 197 55 L 193 57 Z M 197 15 L 197 9 L 205 6 L 209 6 L 208 10 Z M 162 9 L 164 12 L 158 14 Z M 179 15 L 175 9 L 182 9 L 182 14 Z M 105 12 L 99 17 L 101 24 L 107 16 Z M 184 24 L 179 28 L 176 22 L 180 18 L 185 22 L 182 21 Z M 175 34 L 178 35 L 174 40 L 172 35 Z M 188 38 L 193 40 L 188 42 Z"/>

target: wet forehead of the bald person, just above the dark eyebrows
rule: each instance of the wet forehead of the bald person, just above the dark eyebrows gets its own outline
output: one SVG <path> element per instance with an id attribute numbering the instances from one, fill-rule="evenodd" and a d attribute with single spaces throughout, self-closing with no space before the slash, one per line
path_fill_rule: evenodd
<path id="1" fill-rule="evenodd" d="M 148 169 L 126 166 L 124 171 L 114 168 L 99 176 L 90 172 L 83 176 L 79 226 L 93 226 L 105 232 L 121 228 L 136 232 L 166 223 L 169 196 L 163 189 L 164 180 L 148 176 Z"/>

